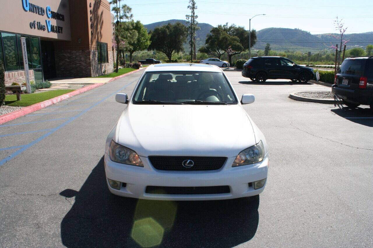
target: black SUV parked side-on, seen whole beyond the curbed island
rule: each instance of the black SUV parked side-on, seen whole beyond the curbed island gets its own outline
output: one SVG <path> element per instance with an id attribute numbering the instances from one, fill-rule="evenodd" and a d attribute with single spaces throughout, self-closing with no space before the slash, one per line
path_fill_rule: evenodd
<path id="1" fill-rule="evenodd" d="M 313 79 L 313 69 L 305 66 L 298 66 L 288 58 L 265 56 L 252 57 L 244 64 L 242 76 L 252 81 L 266 82 L 267 79 L 291 79 L 307 83 Z"/>

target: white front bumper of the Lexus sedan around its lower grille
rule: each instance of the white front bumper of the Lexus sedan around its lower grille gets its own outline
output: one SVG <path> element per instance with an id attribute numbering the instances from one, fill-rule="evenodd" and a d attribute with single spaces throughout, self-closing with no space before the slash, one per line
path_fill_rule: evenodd
<path id="1" fill-rule="evenodd" d="M 126 184 L 125 187 L 116 190 L 110 187 L 107 182 L 111 193 L 123 197 L 149 200 L 223 200 L 249 197 L 263 192 L 265 184 L 262 188 L 254 190 L 253 184 L 249 186 L 249 183 L 267 178 L 269 163 L 267 153 L 262 162 L 253 165 L 232 168 L 235 158 L 228 158 L 225 165 L 217 171 L 159 171 L 151 166 L 148 158 L 140 158 L 144 167 L 116 163 L 110 160 L 108 154 L 105 154 L 106 178 Z M 211 187 L 225 185 L 229 186 L 230 193 L 189 195 L 145 193 L 147 186 Z"/>

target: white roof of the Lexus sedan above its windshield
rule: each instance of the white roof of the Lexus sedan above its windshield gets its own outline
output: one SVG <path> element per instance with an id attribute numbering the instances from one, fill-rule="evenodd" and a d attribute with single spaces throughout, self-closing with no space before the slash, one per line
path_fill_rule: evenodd
<path id="1" fill-rule="evenodd" d="M 222 72 L 222 70 L 210 64 L 194 64 L 194 63 L 165 63 L 154 64 L 148 66 L 146 71 L 210 71 Z"/>

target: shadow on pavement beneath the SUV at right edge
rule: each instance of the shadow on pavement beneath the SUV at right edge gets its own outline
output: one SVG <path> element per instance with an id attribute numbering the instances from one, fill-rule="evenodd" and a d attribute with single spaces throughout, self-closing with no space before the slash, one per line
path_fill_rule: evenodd
<path id="1" fill-rule="evenodd" d="M 367 127 L 373 127 L 373 112 L 369 106 L 366 106 L 367 108 L 349 108 L 342 107 L 341 105 L 338 106 L 339 108 L 330 109 L 330 111 L 354 123 Z"/>

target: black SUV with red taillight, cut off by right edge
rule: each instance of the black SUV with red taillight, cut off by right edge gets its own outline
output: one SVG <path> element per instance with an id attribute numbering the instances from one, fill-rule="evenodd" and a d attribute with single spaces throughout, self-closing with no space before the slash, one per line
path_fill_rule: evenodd
<path id="1" fill-rule="evenodd" d="M 373 109 L 373 56 L 346 58 L 335 75 L 332 92 L 351 108 L 362 104 Z"/>

